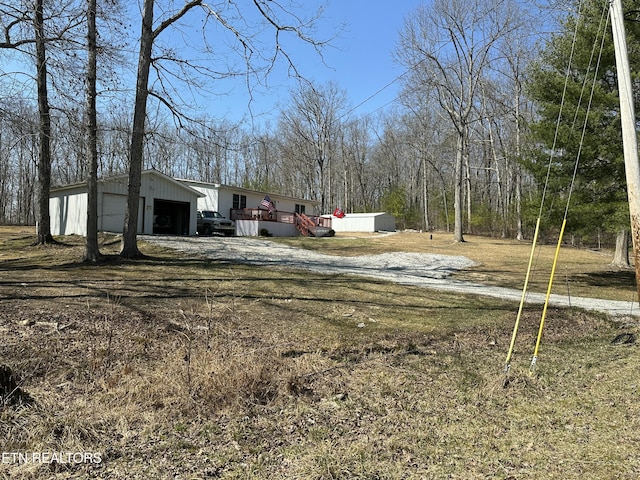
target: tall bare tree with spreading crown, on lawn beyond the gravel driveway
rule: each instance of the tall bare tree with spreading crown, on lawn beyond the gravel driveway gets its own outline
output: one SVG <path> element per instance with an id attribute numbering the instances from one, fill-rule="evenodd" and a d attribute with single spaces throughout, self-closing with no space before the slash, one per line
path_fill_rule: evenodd
<path id="1" fill-rule="evenodd" d="M 407 84 L 435 90 L 455 127 L 454 240 L 459 242 L 464 241 L 463 167 L 469 165 L 477 96 L 497 43 L 514 28 L 513 13 L 509 0 L 435 0 L 418 7 L 400 33 L 397 57 L 412 69 Z"/>

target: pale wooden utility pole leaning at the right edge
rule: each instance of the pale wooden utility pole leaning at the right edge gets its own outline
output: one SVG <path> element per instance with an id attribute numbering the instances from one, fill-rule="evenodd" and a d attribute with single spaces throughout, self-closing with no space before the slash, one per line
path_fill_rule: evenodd
<path id="1" fill-rule="evenodd" d="M 636 286 L 640 301 L 640 165 L 638 165 L 638 137 L 636 114 L 633 107 L 631 70 L 627 53 L 627 37 L 624 30 L 622 0 L 611 0 L 611 27 L 618 71 L 618 93 L 620 95 L 620 118 L 622 121 L 622 146 L 624 168 L 627 177 L 627 197 L 631 217 L 631 238 L 636 266 Z"/>

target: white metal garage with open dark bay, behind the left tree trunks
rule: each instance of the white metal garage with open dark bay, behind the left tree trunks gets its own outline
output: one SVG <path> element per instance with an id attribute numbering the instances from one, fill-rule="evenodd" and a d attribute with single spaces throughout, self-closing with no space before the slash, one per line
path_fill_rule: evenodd
<path id="1" fill-rule="evenodd" d="M 98 230 L 121 233 L 127 206 L 128 176 L 98 181 Z M 142 172 L 138 233 L 195 235 L 197 201 L 203 195 L 156 170 Z M 87 234 L 87 184 L 52 188 L 53 235 Z"/>

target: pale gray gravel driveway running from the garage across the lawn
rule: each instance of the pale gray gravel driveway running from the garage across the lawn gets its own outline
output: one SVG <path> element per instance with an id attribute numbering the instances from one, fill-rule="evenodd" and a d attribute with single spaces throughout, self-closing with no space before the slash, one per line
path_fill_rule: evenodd
<path id="1" fill-rule="evenodd" d="M 289 247 L 253 237 L 170 237 L 141 236 L 149 243 L 213 260 L 225 260 L 261 266 L 310 270 L 323 274 L 349 274 L 388 280 L 404 285 L 427 287 L 447 292 L 483 295 L 520 302 L 521 290 L 492 287 L 451 278 L 456 270 L 475 265 L 462 256 L 424 253 L 384 253 L 359 257 L 340 257 Z M 527 303 L 543 304 L 544 294 L 527 294 Z M 550 305 L 573 306 L 611 315 L 640 315 L 637 302 L 551 295 Z"/>

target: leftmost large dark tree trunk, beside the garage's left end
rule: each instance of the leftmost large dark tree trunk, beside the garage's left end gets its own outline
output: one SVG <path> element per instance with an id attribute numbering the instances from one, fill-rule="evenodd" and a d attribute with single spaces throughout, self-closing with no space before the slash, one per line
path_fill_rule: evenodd
<path id="1" fill-rule="evenodd" d="M 36 82 L 38 89 L 39 151 L 38 151 L 38 231 L 37 243 L 54 243 L 49 215 L 51 189 L 51 113 L 47 91 L 47 54 L 44 36 L 44 0 L 36 0 L 34 28 L 36 44 Z"/>

